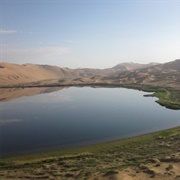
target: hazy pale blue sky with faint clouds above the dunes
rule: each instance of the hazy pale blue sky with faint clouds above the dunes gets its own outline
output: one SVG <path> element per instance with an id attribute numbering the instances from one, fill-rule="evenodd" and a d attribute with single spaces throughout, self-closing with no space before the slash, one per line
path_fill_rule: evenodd
<path id="1" fill-rule="evenodd" d="M 0 0 L 1 61 L 106 68 L 180 58 L 180 0 Z"/>

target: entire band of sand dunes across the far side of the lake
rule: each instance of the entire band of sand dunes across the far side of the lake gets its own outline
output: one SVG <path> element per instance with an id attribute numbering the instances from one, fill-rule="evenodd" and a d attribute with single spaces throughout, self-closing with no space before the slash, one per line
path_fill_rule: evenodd
<path id="1" fill-rule="evenodd" d="M 0 63 L 0 85 L 142 84 L 180 89 L 180 60 L 165 64 L 121 63 L 108 69 Z"/>

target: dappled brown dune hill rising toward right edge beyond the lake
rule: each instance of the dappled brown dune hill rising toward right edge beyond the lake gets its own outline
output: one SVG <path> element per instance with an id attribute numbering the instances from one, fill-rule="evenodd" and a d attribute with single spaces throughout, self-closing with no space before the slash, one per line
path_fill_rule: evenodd
<path id="1" fill-rule="evenodd" d="M 180 60 L 125 71 L 119 74 L 103 77 L 101 81 L 119 84 L 143 84 L 180 89 Z"/>

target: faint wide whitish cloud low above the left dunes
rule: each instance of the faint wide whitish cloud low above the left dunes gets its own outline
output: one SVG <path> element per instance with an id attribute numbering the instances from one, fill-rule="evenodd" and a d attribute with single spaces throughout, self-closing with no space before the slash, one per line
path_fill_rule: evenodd
<path id="1" fill-rule="evenodd" d="M 17 63 L 41 63 L 47 60 L 59 59 L 69 53 L 64 47 L 37 47 L 37 48 L 9 48 L 2 47 L 2 61 Z"/>

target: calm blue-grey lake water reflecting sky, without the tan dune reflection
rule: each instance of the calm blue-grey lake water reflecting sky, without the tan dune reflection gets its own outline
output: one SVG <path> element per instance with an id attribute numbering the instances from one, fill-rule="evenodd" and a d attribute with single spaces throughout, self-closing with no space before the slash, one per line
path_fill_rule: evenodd
<path id="1" fill-rule="evenodd" d="M 29 97 L 16 93 L 19 98 L 0 102 L 0 156 L 93 144 L 180 126 L 179 110 L 166 109 L 155 103 L 156 98 L 144 94 L 91 87 L 56 89 Z"/>

